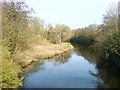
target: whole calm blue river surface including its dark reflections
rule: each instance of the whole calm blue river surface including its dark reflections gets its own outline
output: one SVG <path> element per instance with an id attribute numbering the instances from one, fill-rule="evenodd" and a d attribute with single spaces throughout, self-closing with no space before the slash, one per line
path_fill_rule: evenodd
<path id="1" fill-rule="evenodd" d="M 99 68 L 96 53 L 85 47 L 34 62 L 24 71 L 22 88 L 119 88 L 120 73 L 112 65 Z"/>

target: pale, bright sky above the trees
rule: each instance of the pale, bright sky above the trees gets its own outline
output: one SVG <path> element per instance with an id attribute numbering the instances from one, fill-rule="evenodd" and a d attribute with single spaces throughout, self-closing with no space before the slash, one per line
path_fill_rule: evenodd
<path id="1" fill-rule="evenodd" d="M 106 10 L 119 0 L 26 0 L 46 24 L 65 24 L 71 29 L 101 24 Z"/>

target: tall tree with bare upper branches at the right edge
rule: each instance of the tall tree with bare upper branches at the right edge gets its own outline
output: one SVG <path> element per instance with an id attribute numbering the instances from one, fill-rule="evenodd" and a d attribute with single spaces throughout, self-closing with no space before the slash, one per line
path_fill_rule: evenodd
<path id="1" fill-rule="evenodd" d="M 107 46 L 106 49 L 110 53 L 116 53 L 120 56 L 120 30 L 118 28 L 118 7 L 110 8 L 107 14 L 104 16 L 104 24 L 108 30 L 107 32 Z"/>

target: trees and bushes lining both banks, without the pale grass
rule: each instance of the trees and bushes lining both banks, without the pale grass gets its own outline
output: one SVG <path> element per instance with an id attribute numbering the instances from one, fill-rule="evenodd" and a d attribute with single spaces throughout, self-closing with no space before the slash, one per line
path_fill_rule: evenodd
<path id="1" fill-rule="evenodd" d="M 100 58 L 113 60 L 120 66 L 120 15 L 117 5 L 108 9 L 103 17 L 103 24 L 92 24 L 77 30 L 71 30 L 63 24 L 46 26 L 43 20 L 30 16 L 34 11 L 25 2 L 2 2 L 0 6 L 3 37 L 0 45 L 2 47 L 1 87 L 17 88 L 22 85 L 23 78 L 19 77 L 22 69 L 15 56 L 34 45 L 62 42 L 86 45 L 96 50 Z"/>

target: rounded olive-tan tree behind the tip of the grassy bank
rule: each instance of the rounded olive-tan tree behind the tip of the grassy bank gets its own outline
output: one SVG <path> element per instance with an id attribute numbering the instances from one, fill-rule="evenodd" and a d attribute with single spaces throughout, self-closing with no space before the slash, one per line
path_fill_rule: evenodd
<path id="1" fill-rule="evenodd" d="M 52 43 L 61 43 L 69 41 L 71 38 L 71 29 L 66 25 L 56 25 L 48 30 L 47 39 Z"/>

